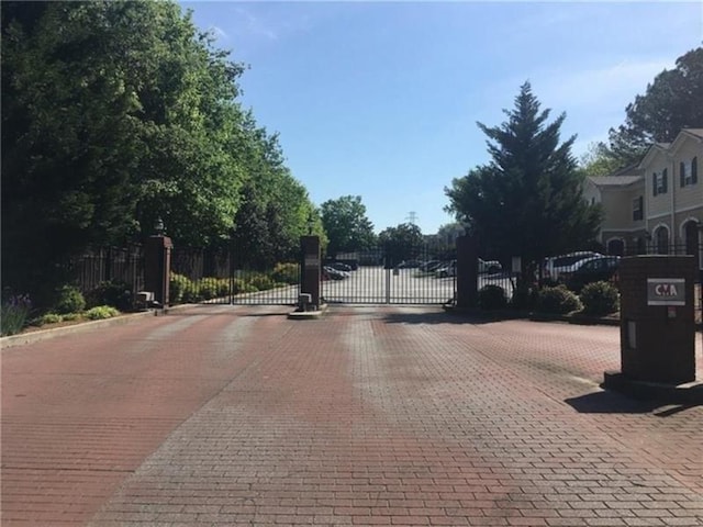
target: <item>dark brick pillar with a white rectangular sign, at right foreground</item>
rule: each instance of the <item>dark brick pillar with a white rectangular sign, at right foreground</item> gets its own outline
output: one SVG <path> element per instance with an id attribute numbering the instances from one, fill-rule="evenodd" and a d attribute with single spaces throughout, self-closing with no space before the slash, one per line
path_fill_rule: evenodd
<path id="1" fill-rule="evenodd" d="M 646 382 L 695 380 L 692 256 L 635 256 L 620 266 L 622 374 Z"/>

